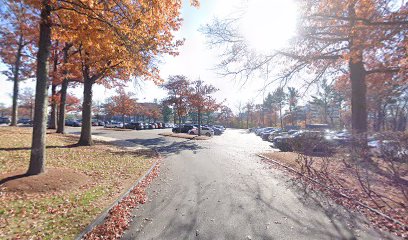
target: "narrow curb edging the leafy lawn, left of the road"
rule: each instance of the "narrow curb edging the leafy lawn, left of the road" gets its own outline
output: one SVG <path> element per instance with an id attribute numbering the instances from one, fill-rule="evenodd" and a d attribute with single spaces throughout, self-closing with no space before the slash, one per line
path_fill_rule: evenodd
<path id="1" fill-rule="evenodd" d="M 87 233 L 91 232 L 92 229 L 101 223 L 105 221 L 105 218 L 108 216 L 109 211 L 115 207 L 118 203 L 120 203 L 123 198 L 127 197 L 129 193 L 139 185 L 139 183 L 145 179 L 152 171 L 153 169 L 157 166 L 157 163 L 161 160 L 160 157 L 157 158 L 157 160 L 153 163 L 153 165 L 149 168 L 149 170 L 142 176 L 140 177 L 135 184 L 133 184 L 125 193 L 119 196 L 118 199 L 116 199 L 109 207 L 105 208 L 105 210 L 102 211 L 101 214 L 97 218 L 95 218 L 81 233 L 77 235 L 75 240 L 81 240 Z"/>

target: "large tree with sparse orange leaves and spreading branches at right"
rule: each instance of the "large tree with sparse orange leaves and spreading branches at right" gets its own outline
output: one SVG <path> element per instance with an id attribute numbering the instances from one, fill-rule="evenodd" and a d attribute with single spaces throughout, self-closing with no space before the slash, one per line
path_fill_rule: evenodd
<path id="1" fill-rule="evenodd" d="M 367 131 L 366 77 L 389 72 L 406 74 L 408 15 L 406 6 L 389 1 L 307 0 L 299 2 L 299 33 L 287 49 L 258 54 L 240 35 L 238 19 L 214 20 L 202 28 L 210 46 L 224 47 L 220 74 L 247 80 L 273 62 L 281 74 L 271 82 L 286 84 L 306 70 L 309 85 L 345 74 L 351 82 L 352 127 Z M 369 10 L 368 10 L 369 9 Z M 380 57 L 381 56 L 381 57 Z"/>

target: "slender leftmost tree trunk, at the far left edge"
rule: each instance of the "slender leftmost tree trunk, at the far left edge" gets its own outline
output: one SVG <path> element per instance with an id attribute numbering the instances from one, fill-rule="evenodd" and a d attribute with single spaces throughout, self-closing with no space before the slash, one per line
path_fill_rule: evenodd
<path id="1" fill-rule="evenodd" d="M 16 62 L 14 64 L 14 76 L 13 76 L 13 108 L 11 112 L 11 126 L 17 126 L 18 117 L 18 92 L 19 92 L 19 74 L 20 74 L 20 61 L 21 51 L 23 50 L 23 36 L 20 35 L 18 39 L 18 49 L 16 54 Z"/>

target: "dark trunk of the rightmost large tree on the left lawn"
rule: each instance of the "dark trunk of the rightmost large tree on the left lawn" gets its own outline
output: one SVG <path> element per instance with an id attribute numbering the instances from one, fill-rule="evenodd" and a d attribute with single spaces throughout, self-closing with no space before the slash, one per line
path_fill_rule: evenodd
<path id="1" fill-rule="evenodd" d="M 92 85 L 91 79 L 84 79 L 84 101 L 82 103 L 81 137 L 78 145 L 92 146 Z"/>

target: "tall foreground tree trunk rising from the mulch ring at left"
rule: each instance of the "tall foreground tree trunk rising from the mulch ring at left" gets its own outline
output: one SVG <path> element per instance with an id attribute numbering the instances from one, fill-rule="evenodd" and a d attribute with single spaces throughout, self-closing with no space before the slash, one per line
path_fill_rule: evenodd
<path id="1" fill-rule="evenodd" d="M 45 170 L 45 135 L 47 129 L 48 59 L 51 46 L 51 6 L 42 1 L 40 40 L 37 53 L 37 83 L 30 165 L 27 175 L 37 175 Z"/>

